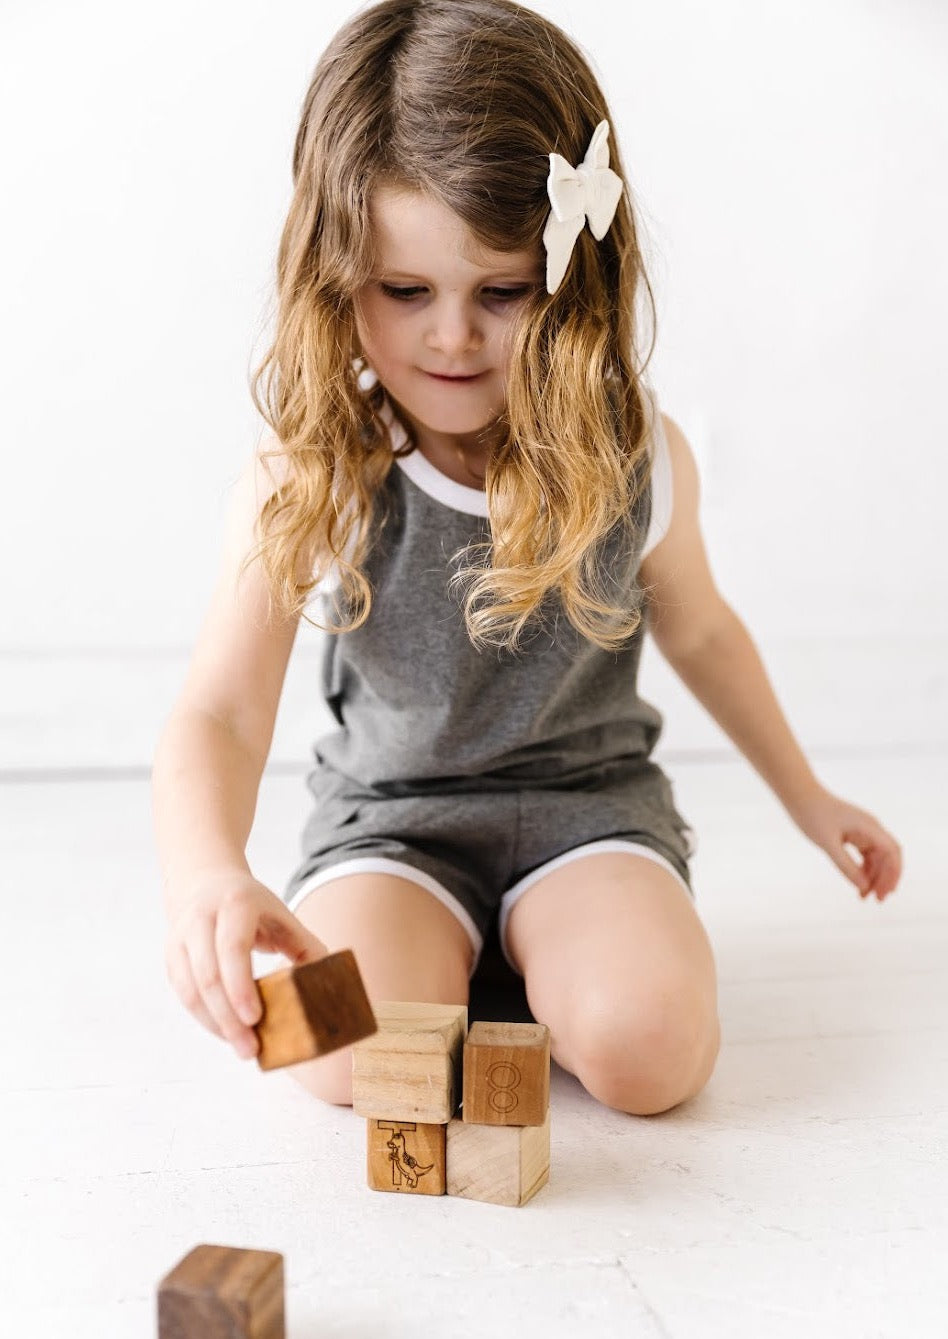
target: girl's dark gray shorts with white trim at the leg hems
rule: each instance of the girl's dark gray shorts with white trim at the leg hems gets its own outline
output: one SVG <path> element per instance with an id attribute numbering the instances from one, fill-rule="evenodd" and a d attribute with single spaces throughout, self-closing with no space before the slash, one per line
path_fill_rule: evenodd
<path id="1" fill-rule="evenodd" d="M 694 900 L 688 860 L 694 830 L 678 813 L 671 782 L 655 763 L 595 790 L 542 786 L 457 789 L 380 795 L 317 793 L 305 858 L 284 901 L 299 911 L 313 889 L 356 873 L 399 874 L 432 893 L 467 931 L 471 973 L 491 917 L 501 949 L 517 900 L 544 874 L 596 852 L 624 850 L 664 866 Z"/>

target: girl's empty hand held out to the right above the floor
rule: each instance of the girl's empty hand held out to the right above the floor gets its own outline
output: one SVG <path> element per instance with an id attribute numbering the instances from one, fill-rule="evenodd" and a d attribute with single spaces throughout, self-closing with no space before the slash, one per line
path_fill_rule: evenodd
<path id="1" fill-rule="evenodd" d="M 793 818 L 801 832 L 822 846 L 837 869 L 856 884 L 860 897 L 876 893 L 881 902 L 894 889 L 902 872 L 902 850 L 872 814 L 821 786 Z M 860 852 L 861 865 L 853 860 L 846 845 Z"/>

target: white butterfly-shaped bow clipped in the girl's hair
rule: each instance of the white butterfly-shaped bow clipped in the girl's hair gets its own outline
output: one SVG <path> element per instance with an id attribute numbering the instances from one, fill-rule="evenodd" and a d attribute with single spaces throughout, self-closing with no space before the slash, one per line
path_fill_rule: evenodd
<path id="1" fill-rule="evenodd" d="M 570 167 L 560 154 L 550 154 L 546 194 L 553 209 L 544 229 L 548 293 L 556 293 L 562 283 L 585 221 L 589 220 L 589 232 L 600 241 L 619 208 L 623 178 L 609 167 L 608 138 L 609 122 L 600 121 L 578 167 Z"/>

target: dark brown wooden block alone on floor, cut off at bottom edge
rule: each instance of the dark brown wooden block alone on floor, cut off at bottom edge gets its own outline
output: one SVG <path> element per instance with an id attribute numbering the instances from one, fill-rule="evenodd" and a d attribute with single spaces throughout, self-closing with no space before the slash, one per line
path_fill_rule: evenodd
<path id="1" fill-rule="evenodd" d="M 158 1284 L 158 1339 L 285 1339 L 283 1256 L 194 1247 Z"/>

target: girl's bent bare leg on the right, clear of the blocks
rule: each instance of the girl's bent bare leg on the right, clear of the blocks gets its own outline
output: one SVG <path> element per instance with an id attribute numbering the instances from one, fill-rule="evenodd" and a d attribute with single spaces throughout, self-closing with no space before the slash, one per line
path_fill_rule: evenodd
<path id="1" fill-rule="evenodd" d="M 552 870 L 511 908 L 506 941 L 553 1058 L 593 1097 L 653 1115 L 707 1083 L 720 1048 L 714 955 L 661 865 L 613 852 Z"/>

